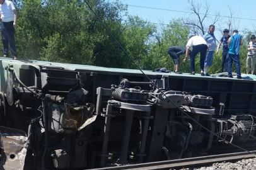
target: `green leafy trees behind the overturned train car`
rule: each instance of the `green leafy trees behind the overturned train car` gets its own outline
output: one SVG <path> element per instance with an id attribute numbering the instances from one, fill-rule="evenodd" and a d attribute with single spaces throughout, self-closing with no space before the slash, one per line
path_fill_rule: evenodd
<path id="1" fill-rule="evenodd" d="M 137 69 L 84 1 L 13 2 L 18 11 L 16 46 L 20 58 Z M 173 61 L 166 50 L 174 45 L 185 47 L 190 30 L 183 26 L 182 19 L 156 28 L 138 16 L 128 15 L 127 6 L 118 0 L 114 3 L 89 0 L 88 3 L 137 65 L 143 69 L 166 67 L 173 71 Z M 250 32 L 243 35 L 241 72 L 245 72 L 250 35 Z M 221 57 L 221 51 L 214 54 L 211 74 L 221 71 Z M 199 59 L 199 56 L 195 58 L 197 72 Z M 179 69 L 190 72 L 190 62 L 182 62 Z"/>

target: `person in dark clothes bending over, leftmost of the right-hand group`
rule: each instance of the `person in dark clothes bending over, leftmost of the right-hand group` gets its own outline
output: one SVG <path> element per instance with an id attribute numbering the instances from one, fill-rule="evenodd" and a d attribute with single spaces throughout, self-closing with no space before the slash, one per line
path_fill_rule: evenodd
<path id="1" fill-rule="evenodd" d="M 183 47 L 172 46 L 168 48 L 167 52 L 173 59 L 174 72 L 177 74 L 182 74 L 178 71 L 178 65 L 180 64 L 180 55 L 185 54 L 186 49 Z"/>

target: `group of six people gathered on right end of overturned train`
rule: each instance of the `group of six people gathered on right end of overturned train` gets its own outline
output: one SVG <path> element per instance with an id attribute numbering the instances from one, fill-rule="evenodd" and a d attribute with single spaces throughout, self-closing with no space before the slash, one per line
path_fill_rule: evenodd
<path id="1" fill-rule="evenodd" d="M 195 75 L 195 56 L 200 52 L 200 73 L 201 76 L 210 76 L 208 74 L 208 69 L 212 65 L 214 51 L 218 54 L 221 44 L 223 44 L 222 52 L 222 65 L 221 71 L 228 71 L 228 77 L 232 76 L 232 64 L 235 62 L 237 78 L 241 79 L 240 72 L 240 57 L 239 50 L 240 45 L 243 45 L 243 40 L 241 35 L 237 30 L 233 30 L 232 35 L 229 35 L 229 30 L 223 30 L 223 37 L 217 47 L 216 37 L 214 36 L 215 26 L 210 25 L 207 33 L 201 36 L 191 36 L 187 42 L 186 48 L 173 46 L 168 48 L 167 52 L 172 57 L 174 62 L 174 72 L 177 74 L 182 74 L 178 71 L 178 65 L 181 62 L 180 55 L 185 54 L 183 62 L 186 62 L 190 56 L 190 71 L 192 75 Z M 248 54 L 247 54 L 247 74 L 252 67 L 252 74 L 255 69 L 255 55 L 256 55 L 256 41 L 255 36 L 250 37 L 251 42 L 248 44 Z M 192 48 L 192 50 L 190 50 Z"/>

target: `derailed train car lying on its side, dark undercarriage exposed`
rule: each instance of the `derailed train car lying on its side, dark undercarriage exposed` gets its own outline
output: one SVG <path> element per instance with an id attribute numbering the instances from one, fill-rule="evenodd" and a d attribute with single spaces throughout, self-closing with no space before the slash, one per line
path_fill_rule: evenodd
<path id="1" fill-rule="evenodd" d="M 228 142 L 253 149 L 256 77 L 145 73 L 151 81 L 1 58 L 1 168 L 122 166 L 234 152 Z"/>

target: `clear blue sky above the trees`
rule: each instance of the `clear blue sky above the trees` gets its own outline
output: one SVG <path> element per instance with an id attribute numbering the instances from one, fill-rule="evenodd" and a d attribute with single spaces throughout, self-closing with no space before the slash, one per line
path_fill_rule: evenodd
<path id="1" fill-rule="evenodd" d="M 113 2 L 115 0 L 109 0 Z M 190 4 L 187 0 L 119 0 L 121 3 L 128 5 L 128 13 L 137 15 L 144 20 L 148 20 L 151 23 L 165 23 L 168 24 L 170 20 L 177 18 L 189 18 L 192 15 L 188 12 Z M 234 13 L 235 26 L 238 31 L 243 35 L 248 30 L 255 32 L 256 30 L 256 1 L 238 1 L 238 0 L 194 0 L 194 3 L 202 4 L 202 11 L 204 10 L 204 4 L 208 3 L 210 7 L 210 14 L 214 15 L 217 11 L 222 16 L 218 25 L 216 26 L 215 35 L 217 39 L 221 38 L 221 30 L 227 28 L 227 17 L 230 16 L 230 9 Z M 136 7 L 139 6 L 139 7 Z M 143 8 L 146 7 L 146 8 Z M 230 9 L 229 9 L 230 7 Z M 160 8 L 160 9 L 149 9 Z M 171 11 L 166 11 L 168 9 Z M 214 16 L 210 16 L 214 18 Z M 240 19 L 238 19 L 240 18 Z M 248 20 L 249 19 L 249 20 Z M 209 18 L 206 21 L 206 25 L 212 24 L 212 20 Z"/>

